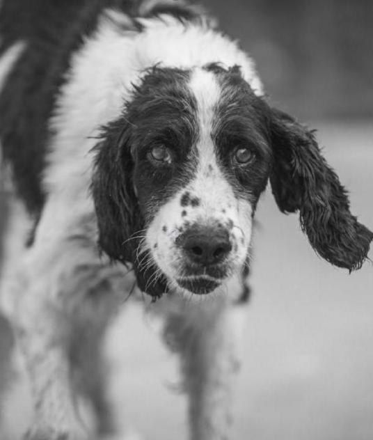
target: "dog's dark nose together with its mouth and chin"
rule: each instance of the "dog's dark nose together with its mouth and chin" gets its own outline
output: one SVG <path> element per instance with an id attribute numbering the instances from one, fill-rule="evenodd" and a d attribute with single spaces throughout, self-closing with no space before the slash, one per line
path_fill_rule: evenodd
<path id="1" fill-rule="evenodd" d="M 183 276 L 177 283 L 190 292 L 207 294 L 227 276 L 227 260 L 232 251 L 228 230 L 223 226 L 188 228 L 177 238 L 184 256 Z"/>

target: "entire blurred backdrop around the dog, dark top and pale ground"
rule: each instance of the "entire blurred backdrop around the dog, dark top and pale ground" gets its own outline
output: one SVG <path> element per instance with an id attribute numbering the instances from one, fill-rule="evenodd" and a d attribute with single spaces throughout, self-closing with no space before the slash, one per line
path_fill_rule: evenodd
<path id="1" fill-rule="evenodd" d="M 253 55 L 271 103 L 318 129 L 351 209 L 373 229 L 373 1 L 204 3 Z M 232 439 L 372 440 L 372 264 L 350 275 L 320 260 L 270 189 L 257 219 Z M 138 306 L 120 313 L 106 347 L 113 399 L 145 439 L 187 439 L 177 362 L 158 333 Z M 22 377 L 14 384 L 4 412 L 16 439 L 30 413 Z"/>

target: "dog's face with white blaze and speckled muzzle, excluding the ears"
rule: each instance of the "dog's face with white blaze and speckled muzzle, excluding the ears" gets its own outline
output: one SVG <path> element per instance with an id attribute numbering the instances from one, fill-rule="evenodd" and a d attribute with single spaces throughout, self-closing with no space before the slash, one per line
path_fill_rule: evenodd
<path id="1" fill-rule="evenodd" d="M 211 292 L 246 262 L 271 164 L 255 106 L 239 72 L 216 66 L 153 71 L 129 106 L 141 109 L 131 118 L 133 182 L 145 219 L 138 258 L 148 254 L 173 288 Z"/>

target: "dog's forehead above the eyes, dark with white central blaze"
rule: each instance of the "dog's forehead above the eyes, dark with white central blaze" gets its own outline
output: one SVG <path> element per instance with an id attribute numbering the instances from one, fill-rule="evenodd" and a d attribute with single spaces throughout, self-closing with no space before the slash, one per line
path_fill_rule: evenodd
<path id="1" fill-rule="evenodd" d="M 241 125 L 250 125 L 257 118 L 258 100 L 238 66 L 221 68 L 210 63 L 189 70 L 154 66 L 135 86 L 127 116 L 140 122 L 141 131 L 141 120 L 148 127 L 154 120 L 158 127 L 184 121 L 189 129 L 193 125 L 195 130 L 212 133 L 234 118 L 241 118 Z"/>

